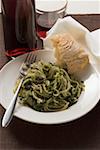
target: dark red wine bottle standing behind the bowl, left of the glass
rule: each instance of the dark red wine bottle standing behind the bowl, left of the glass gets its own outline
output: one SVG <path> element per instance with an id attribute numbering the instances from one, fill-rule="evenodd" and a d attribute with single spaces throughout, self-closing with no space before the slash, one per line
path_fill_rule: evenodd
<path id="1" fill-rule="evenodd" d="M 34 0 L 2 0 L 5 49 L 42 48 Z"/>

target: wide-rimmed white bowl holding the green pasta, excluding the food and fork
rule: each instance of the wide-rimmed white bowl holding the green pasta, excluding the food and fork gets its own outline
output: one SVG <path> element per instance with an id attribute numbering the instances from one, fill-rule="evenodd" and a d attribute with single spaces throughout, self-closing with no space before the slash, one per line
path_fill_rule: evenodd
<path id="1" fill-rule="evenodd" d="M 34 54 L 37 55 L 37 61 L 41 58 L 47 62 L 55 61 L 53 51 L 40 50 L 35 51 Z M 26 54 L 10 61 L 0 72 L 0 101 L 4 108 L 8 107 L 14 95 L 13 88 L 19 75 L 18 70 L 25 56 Z M 69 109 L 54 113 L 43 113 L 17 104 L 14 115 L 20 119 L 40 124 L 59 124 L 75 120 L 85 115 L 99 101 L 100 77 L 92 65 L 90 65 L 85 74 L 82 75 L 82 80 L 85 82 L 85 92 L 81 94 L 79 101 Z"/>

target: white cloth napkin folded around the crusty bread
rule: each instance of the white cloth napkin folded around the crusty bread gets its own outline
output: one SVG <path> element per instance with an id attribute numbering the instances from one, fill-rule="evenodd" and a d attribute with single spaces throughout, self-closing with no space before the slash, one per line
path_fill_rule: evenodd
<path id="1" fill-rule="evenodd" d="M 55 25 L 48 31 L 44 39 L 44 48 L 53 50 L 51 37 L 55 34 L 65 32 L 71 34 L 71 36 L 84 47 L 89 54 L 90 63 L 100 74 L 100 45 L 97 44 L 96 39 L 93 38 L 87 28 L 70 16 L 58 19 Z M 97 38 L 99 39 L 99 37 Z"/>

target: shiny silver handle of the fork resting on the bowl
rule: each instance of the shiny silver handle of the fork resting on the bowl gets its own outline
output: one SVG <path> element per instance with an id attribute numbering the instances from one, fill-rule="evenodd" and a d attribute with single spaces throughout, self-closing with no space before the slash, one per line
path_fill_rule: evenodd
<path id="1" fill-rule="evenodd" d="M 13 117 L 13 113 L 14 113 L 14 109 L 15 109 L 15 106 L 16 106 L 16 101 L 17 101 L 17 97 L 18 97 L 18 93 L 19 93 L 19 90 L 20 90 L 20 87 L 22 85 L 22 82 L 23 82 L 23 78 L 21 79 L 20 83 L 19 83 L 19 86 L 14 94 L 14 97 L 13 99 L 11 100 L 3 118 L 2 118 L 2 127 L 7 127 L 9 125 L 9 123 L 11 122 L 12 120 L 12 117 Z"/>

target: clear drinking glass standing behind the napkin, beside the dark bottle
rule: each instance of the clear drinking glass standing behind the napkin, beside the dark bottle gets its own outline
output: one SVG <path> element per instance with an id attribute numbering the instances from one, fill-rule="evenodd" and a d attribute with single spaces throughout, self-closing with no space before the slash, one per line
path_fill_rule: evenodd
<path id="1" fill-rule="evenodd" d="M 58 18 L 65 16 L 67 0 L 36 0 L 37 24 L 44 28 L 51 28 Z"/>

